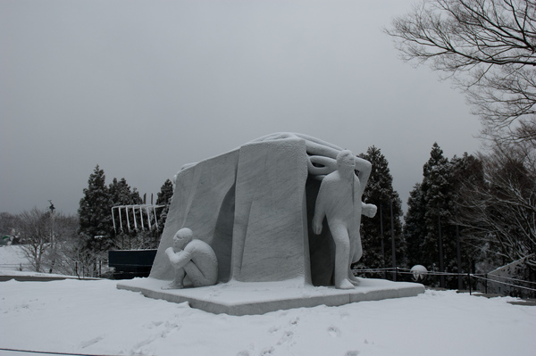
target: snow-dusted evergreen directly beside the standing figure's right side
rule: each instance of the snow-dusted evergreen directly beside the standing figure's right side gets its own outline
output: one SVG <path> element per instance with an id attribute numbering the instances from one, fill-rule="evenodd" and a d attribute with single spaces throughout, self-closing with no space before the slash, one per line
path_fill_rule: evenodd
<path id="1" fill-rule="evenodd" d="M 401 201 L 398 193 L 393 189 L 393 178 L 389 170 L 389 162 L 379 148 L 371 146 L 367 152 L 360 154 L 364 160 L 370 161 L 373 166 L 368 184 L 364 190 L 363 199 L 366 203 L 373 203 L 378 207 L 374 218 L 363 218 L 361 240 L 363 244 L 363 258 L 356 264 L 358 268 L 377 269 L 392 266 L 391 248 L 391 213 L 393 209 L 393 227 L 395 236 L 396 262 L 404 264 L 405 244 L 402 238 Z M 383 223 L 383 236 L 381 235 L 381 222 Z"/>

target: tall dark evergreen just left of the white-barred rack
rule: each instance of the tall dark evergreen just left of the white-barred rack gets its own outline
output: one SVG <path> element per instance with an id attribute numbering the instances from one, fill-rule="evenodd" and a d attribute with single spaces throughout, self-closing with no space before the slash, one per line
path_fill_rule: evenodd
<path id="1" fill-rule="evenodd" d="M 113 245 L 112 199 L 105 185 L 105 171 L 96 165 L 89 176 L 88 187 L 80 199 L 80 236 L 85 248 L 94 252 L 105 251 Z"/>

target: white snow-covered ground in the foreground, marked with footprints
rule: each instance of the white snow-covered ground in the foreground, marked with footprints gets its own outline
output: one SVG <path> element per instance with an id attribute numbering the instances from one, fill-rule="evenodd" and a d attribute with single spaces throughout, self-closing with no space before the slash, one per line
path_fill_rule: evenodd
<path id="1" fill-rule="evenodd" d="M 0 283 L 0 348 L 101 355 L 534 355 L 536 307 L 454 291 L 233 317 L 111 280 Z M 0 351 L 0 355 L 20 352 Z"/>

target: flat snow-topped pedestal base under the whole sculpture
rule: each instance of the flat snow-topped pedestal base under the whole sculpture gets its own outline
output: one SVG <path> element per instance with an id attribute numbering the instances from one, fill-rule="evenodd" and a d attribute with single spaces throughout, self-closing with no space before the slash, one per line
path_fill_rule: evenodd
<path id="1" fill-rule="evenodd" d="M 169 281 L 136 278 L 121 281 L 117 288 L 140 292 L 149 298 L 168 302 L 188 302 L 190 307 L 214 314 L 255 315 L 269 311 L 310 308 L 317 305 L 339 306 L 350 302 L 380 301 L 415 296 L 424 286 L 385 279 L 359 278 L 360 286 L 351 290 L 332 286 L 304 285 L 299 278 L 281 282 L 237 282 L 216 286 L 163 290 Z"/>

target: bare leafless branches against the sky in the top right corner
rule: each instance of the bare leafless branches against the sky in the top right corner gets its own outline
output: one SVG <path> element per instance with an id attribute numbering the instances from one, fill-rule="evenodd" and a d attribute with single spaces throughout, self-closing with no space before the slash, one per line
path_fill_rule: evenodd
<path id="1" fill-rule="evenodd" d="M 455 80 L 484 137 L 536 142 L 536 2 L 424 0 L 393 21 L 406 61 Z"/>

